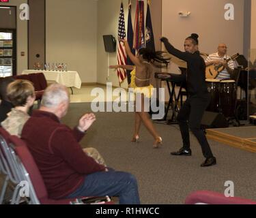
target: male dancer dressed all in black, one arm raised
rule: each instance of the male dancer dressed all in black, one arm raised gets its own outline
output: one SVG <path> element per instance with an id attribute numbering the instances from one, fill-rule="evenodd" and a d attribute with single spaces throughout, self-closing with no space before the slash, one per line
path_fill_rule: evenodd
<path id="1" fill-rule="evenodd" d="M 210 93 L 208 93 L 205 84 L 205 62 L 198 50 L 198 37 L 197 34 L 193 33 L 186 38 L 184 42 L 185 52 L 174 48 L 166 37 L 162 37 L 160 41 L 165 44 L 165 48 L 171 55 L 186 61 L 188 65 L 186 75 L 188 98 L 177 116 L 183 147 L 179 151 L 171 153 L 171 155 L 190 156 L 192 154 L 190 150 L 189 127 L 201 145 L 203 156 L 205 157 L 201 167 L 205 167 L 216 164 L 216 158 L 212 154 L 203 130 L 200 128 L 203 112 L 210 103 Z M 174 79 L 177 80 L 178 78 L 175 77 Z M 182 79 L 182 76 L 180 76 L 180 79 Z"/>

